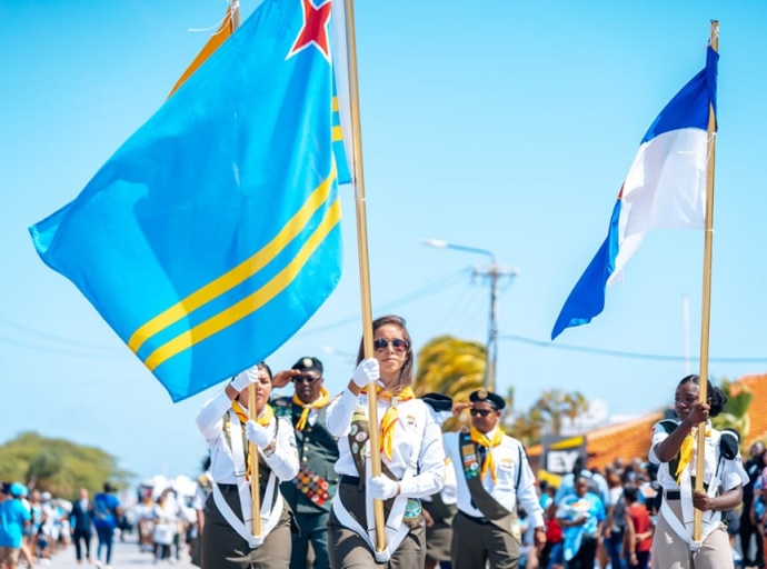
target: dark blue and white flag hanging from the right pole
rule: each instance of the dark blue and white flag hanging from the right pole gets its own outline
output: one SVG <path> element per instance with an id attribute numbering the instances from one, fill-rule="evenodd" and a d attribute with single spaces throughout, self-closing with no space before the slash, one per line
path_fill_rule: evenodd
<path id="1" fill-rule="evenodd" d="M 567 298 L 551 330 L 585 325 L 605 308 L 606 286 L 620 279 L 650 229 L 703 229 L 706 214 L 709 106 L 716 116 L 719 54 L 671 99 L 639 146 L 612 209 L 607 238 Z"/>

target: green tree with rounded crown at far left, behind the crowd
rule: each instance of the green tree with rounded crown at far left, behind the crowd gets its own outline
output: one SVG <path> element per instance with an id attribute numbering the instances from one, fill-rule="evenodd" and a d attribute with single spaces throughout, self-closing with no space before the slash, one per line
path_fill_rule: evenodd
<path id="1" fill-rule="evenodd" d="M 19 480 L 30 490 L 47 490 L 62 498 L 76 498 L 80 488 L 96 492 L 107 480 L 123 486 L 132 477 L 99 448 L 37 432 L 21 432 L 0 447 L 0 480 Z"/>

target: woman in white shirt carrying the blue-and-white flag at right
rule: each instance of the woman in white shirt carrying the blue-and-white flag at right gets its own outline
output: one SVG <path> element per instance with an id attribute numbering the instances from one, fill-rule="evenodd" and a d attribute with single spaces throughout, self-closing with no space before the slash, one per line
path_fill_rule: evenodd
<path id="1" fill-rule="evenodd" d="M 737 433 L 711 428 L 709 418 L 721 412 L 727 396 L 707 381 L 706 402 L 698 401 L 700 378 L 687 376 L 676 389 L 678 420 L 653 429 L 649 459 L 659 465 L 663 502 L 653 539 L 653 569 L 733 568 L 733 551 L 721 512 L 743 499 L 748 475 L 740 463 Z M 703 423 L 703 425 L 701 425 Z M 697 430 L 706 429 L 704 491 L 695 491 Z M 700 540 L 694 540 L 694 508 L 703 512 Z"/>

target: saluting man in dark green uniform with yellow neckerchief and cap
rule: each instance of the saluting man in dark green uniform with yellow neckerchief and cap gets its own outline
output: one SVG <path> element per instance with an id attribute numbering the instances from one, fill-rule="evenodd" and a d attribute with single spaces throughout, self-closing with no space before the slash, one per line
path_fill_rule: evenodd
<path id="1" fill-rule="evenodd" d="M 325 420 L 330 397 L 322 387 L 322 362 L 317 358 L 301 358 L 292 369 L 275 376 L 275 387 L 285 387 L 289 381 L 293 382 L 293 396 L 273 399 L 272 407 L 277 416 L 292 423 L 300 460 L 298 476 L 280 485 L 301 529 L 300 535 L 292 536 L 290 568 L 306 569 L 311 542 L 315 569 L 329 569 L 327 523 L 338 487 L 333 469 L 338 439 L 328 432 Z"/>

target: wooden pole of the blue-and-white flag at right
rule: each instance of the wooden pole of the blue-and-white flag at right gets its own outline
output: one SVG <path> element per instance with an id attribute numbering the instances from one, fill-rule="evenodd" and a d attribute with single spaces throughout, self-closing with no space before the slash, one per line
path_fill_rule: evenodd
<path id="1" fill-rule="evenodd" d="M 711 20 L 709 44 L 714 51 L 719 51 L 719 22 Z M 708 163 L 706 171 L 706 227 L 704 231 L 704 278 L 703 278 L 703 310 L 700 317 L 700 386 L 698 401 L 708 400 L 708 336 L 711 319 L 711 251 L 714 247 L 714 159 L 716 157 L 716 116 L 714 107 L 708 104 Z M 695 491 L 704 490 L 706 425 L 698 426 L 698 452 L 695 461 Z M 700 541 L 703 512 L 694 508 L 693 539 Z"/>

